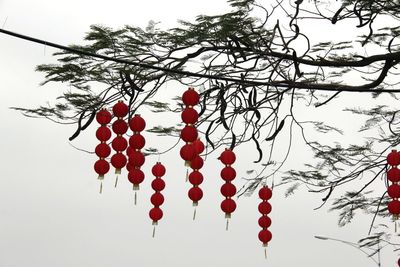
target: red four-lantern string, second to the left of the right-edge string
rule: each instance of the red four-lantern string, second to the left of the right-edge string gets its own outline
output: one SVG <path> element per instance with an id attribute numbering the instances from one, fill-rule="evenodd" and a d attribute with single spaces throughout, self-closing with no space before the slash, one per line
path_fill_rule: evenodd
<path id="1" fill-rule="evenodd" d="M 225 151 L 221 153 L 219 160 L 225 165 L 221 170 L 221 178 L 225 183 L 221 186 L 221 193 L 225 199 L 221 202 L 221 210 L 225 213 L 226 229 L 228 230 L 229 219 L 231 214 L 236 210 L 236 202 L 232 197 L 236 194 L 236 187 L 232 181 L 236 178 L 236 171 L 232 167 L 232 164 L 236 161 L 235 153 L 226 148 Z"/>

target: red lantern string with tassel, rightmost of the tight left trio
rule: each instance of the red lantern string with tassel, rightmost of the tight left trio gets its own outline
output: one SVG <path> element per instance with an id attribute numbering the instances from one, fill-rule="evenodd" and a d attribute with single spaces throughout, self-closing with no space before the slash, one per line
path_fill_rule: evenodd
<path id="1" fill-rule="evenodd" d="M 138 114 L 133 116 L 129 121 L 129 128 L 132 130 L 133 134 L 129 138 L 129 148 L 128 154 L 128 180 L 133 184 L 133 190 L 139 190 L 139 184 L 144 181 L 144 173 L 141 170 L 145 162 L 144 154 L 142 149 L 146 144 L 146 139 L 143 137 L 141 132 L 146 128 L 145 120 Z M 135 203 L 136 203 L 136 193 L 135 193 Z"/>

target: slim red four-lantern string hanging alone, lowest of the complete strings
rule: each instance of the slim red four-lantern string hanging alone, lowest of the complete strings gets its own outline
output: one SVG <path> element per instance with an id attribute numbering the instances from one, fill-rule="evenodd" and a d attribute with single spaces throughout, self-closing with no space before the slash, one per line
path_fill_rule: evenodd
<path id="1" fill-rule="evenodd" d="M 258 233 L 258 239 L 263 243 L 263 246 L 266 247 L 268 242 L 272 239 L 272 234 L 268 230 L 271 226 L 271 219 L 268 217 L 268 214 L 272 210 L 272 206 L 268 200 L 272 197 L 272 191 L 269 187 L 264 186 L 258 191 L 258 196 L 262 200 L 258 205 L 258 211 L 261 213 L 261 217 L 258 219 L 258 225 L 262 228 Z"/>

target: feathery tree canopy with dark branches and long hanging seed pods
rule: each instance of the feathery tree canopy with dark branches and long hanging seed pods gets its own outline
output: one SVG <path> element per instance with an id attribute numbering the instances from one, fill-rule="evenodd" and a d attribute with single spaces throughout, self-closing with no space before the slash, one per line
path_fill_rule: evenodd
<path id="1" fill-rule="evenodd" d="M 358 211 L 371 213 L 372 229 L 376 217 L 389 216 L 389 197 L 371 188 L 386 181 L 386 155 L 400 143 L 395 106 L 400 92 L 400 1 L 228 2 L 231 11 L 225 14 L 199 15 L 168 30 L 153 21 L 145 29 L 93 25 L 84 44 L 55 53 L 57 64 L 37 67 L 45 74 L 43 84 L 71 86 L 59 102 L 15 109 L 77 125 L 72 140 L 92 123 L 96 111 L 119 99 L 129 103 L 129 116 L 143 105 L 154 112 L 180 112 L 179 97 L 176 103 L 153 97 L 169 81 L 196 87 L 201 92 L 197 126 L 209 153 L 245 143 L 257 151 L 254 161 L 261 169 L 257 175 L 249 170 L 241 194 L 251 193 L 284 167 L 293 136 L 299 135 L 314 153 L 314 163 L 286 171 L 278 183 L 287 185 L 288 194 L 299 186 L 322 193 L 322 205 L 333 198 L 331 209 L 339 211 L 339 225 L 351 222 Z M 329 33 L 344 27 L 346 34 Z M 343 132 L 340 125 L 302 121 L 296 108 L 318 112 L 349 92 L 370 96 L 368 107 L 346 108 L 364 121 L 363 140 L 346 144 L 310 137 L 312 132 Z M 178 137 L 179 126 L 149 131 Z M 279 138 L 289 143 L 283 162 L 271 157 Z M 353 190 L 335 193 L 354 181 L 358 184 L 353 183 Z M 382 229 L 361 244 L 390 242 Z"/>

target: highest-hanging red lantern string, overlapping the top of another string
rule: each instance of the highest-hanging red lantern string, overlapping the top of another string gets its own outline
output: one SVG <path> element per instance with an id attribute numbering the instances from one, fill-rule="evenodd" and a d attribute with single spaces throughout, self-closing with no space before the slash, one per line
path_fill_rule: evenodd
<path id="1" fill-rule="evenodd" d="M 199 103 L 199 100 L 200 96 L 193 88 L 189 88 L 182 95 L 182 102 L 185 108 L 181 113 L 181 118 L 186 125 L 181 130 L 181 138 L 186 144 L 181 148 L 180 155 L 186 166 L 190 166 L 190 162 L 198 156 L 193 142 L 198 137 L 198 132 L 194 125 L 199 119 L 199 114 L 194 109 L 194 106 Z"/>

